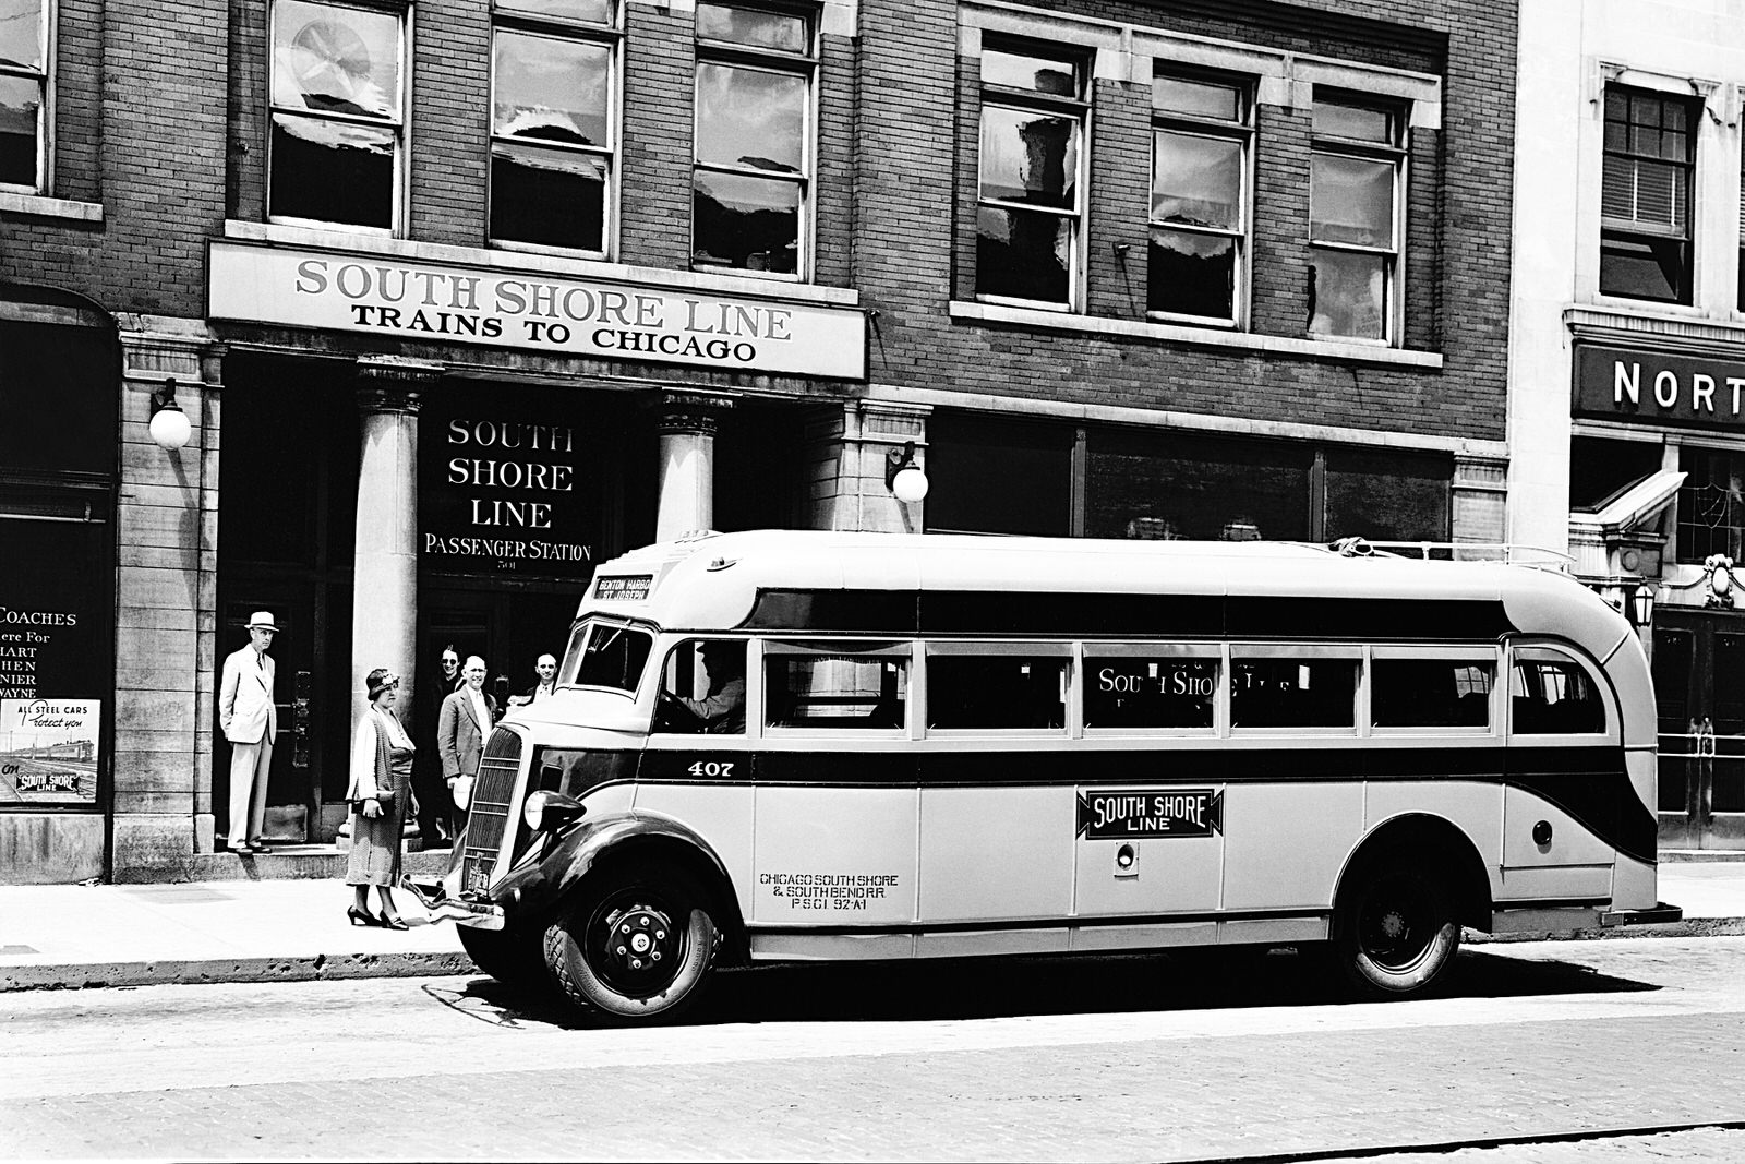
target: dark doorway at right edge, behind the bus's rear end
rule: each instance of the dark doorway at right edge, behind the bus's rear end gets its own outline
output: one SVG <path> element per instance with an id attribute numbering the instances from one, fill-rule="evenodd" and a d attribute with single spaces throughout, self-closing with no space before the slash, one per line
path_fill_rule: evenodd
<path id="1" fill-rule="evenodd" d="M 1745 850 L 1745 613 L 1654 613 L 1659 846 Z"/>

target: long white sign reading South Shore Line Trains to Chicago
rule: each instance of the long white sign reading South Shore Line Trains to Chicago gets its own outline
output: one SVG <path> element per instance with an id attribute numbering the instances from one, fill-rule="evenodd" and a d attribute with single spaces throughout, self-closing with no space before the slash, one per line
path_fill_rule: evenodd
<path id="1" fill-rule="evenodd" d="M 866 318 L 845 307 L 237 243 L 211 244 L 209 281 L 213 319 L 866 379 Z"/>

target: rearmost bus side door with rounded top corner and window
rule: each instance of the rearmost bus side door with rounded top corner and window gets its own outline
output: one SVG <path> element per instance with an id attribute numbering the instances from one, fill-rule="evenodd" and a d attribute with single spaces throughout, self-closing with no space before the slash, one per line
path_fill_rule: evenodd
<path id="1" fill-rule="evenodd" d="M 1611 899 L 1618 829 L 1632 798 L 1609 691 L 1560 647 L 1511 647 L 1497 906 Z"/>

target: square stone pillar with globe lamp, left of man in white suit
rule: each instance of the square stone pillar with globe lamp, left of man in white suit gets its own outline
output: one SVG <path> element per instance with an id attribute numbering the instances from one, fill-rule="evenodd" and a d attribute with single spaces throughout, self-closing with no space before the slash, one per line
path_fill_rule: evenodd
<path id="1" fill-rule="evenodd" d="M 218 398 L 223 349 L 202 319 L 117 316 L 115 881 L 195 876 L 213 850 Z M 159 448 L 152 393 L 176 382 L 192 438 Z"/>

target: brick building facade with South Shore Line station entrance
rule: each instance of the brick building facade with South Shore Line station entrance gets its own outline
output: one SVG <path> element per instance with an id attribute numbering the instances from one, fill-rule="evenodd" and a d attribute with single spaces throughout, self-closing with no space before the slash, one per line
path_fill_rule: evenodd
<path id="1" fill-rule="evenodd" d="M 1513 5 L 0 2 L 0 384 L 86 435 L 0 520 L 98 497 L 115 623 L 14 880 L 222 845 L 258 609 L 325 843 L 370 667 L 422 735 L 441 647 L 525 688 L 688 529 L 1501 541 Z"/>

